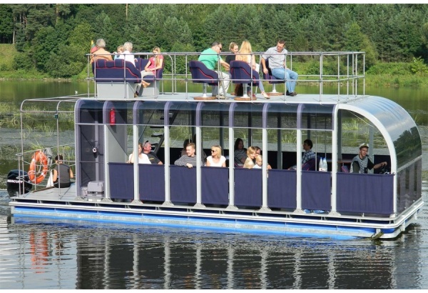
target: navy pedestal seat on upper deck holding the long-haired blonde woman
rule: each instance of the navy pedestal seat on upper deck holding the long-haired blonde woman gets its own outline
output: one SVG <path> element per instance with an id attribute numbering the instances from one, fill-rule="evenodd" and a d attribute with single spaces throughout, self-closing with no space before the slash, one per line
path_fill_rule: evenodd
<path id="1" fill-rule="evenodd" d="M 258 86 L 260 81 L 260 75 L 257 71 L 253 70 L 250 65 L 248 65 L 245 61 L 230 61 L 230 74 L 232 75 L 232 82 L 234 84 L 243 84 L 243 96 L 236 97 L 237 100 L 251 100 L 256 99 L 248 96 L 247 87 L 250 86 Z"/>

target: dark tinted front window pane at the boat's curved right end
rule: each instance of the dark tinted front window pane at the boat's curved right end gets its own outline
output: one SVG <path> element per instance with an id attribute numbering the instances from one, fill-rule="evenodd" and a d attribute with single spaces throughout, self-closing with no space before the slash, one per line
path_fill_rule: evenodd
<path id="1" fill-rule="evenodd" d="M 399 166 L 402 166 L 422 155 L 421 136 L 417 126 L 404 131 L 398 139 L 394 141 L 395 150 L 397 152 L 397 161 Z"/>

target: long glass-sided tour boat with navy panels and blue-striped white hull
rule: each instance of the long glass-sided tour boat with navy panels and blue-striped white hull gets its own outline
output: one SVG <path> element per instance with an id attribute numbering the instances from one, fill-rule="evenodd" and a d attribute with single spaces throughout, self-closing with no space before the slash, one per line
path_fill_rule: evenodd
<path id="1" fill-rule="evenodd" d="M 190 60 L 195 53 L 181 55 Z M 75 169 L 76 183 L 69 188 L 51 187 L 50 176 L 44 178 L 45 170 L 52 169 L 51 162 L 32 173 L 37 165 L 31 156 L 41 156 L 41 152 L 23 147 L 16 172 L 20 178 L 13 180 L 28 181 L 19 174 L 31 170 L 29 178 L 40 184 L 34 184 L 31 192 L 12 194 L 11 212 L 41 220 L 162 223 L 219 232 L 304 233 L 340 239 L 397 237 L 416 222 L 424 203 L 422 142 L 407 111 L 389 99 L 367 96 L 364 87 L 357 87 L 365 78 L 360 55 L 314 53 L 320 58 L 320 68 L 322 56 L 334 57 L 338 64 L 337 76 L 324 76 L 322 70 L 320 75 L 306 76 L 320 83 L 320 94 L 286 96 L 274 92 L 270 99 L 252 99 L 246 91 L 244 96 L 215 99 L 207 96 L 205 86 L 202 96 L 165 93 L 161 84 L 177 82 L 174 72 L 170 78 L 158 76 L 134 97 L 135 75 L 126 80 L 117 75 L 127 73 L 129 64 L 120 68 L 118 63 L 123 60 L 110 61 L 112 64 L 97 61 L 93 69 L 96 94 L 22 103 L 21 129 L 31 126 L 31 115 L 55 118 L 50 123 L 56 123 L 56 137 L 51 144 L 49 139 L 44 141 L 44 154 L 49 159 L 64 153 L 74 157 L 68 163 Z M 298 60 L 299 54 L 290 57 Z M 358 63 L 358 58 L 363 61 Z M 340 70 L 342 64 L 346 70 Z M 194 68 L 190 65 L 192 74 L 183 81 L 218 82 L 208 80 L 205 71 L 198 77 L 200 71 Z M 252 75 L 236 78 L 232 71 L 233 81 L 238 83 L 251 82 Z M 338 86 L 337 94 L 322 94 L 326 82 L 347 86 Z M 44 103 L 44 109 L 34 110 L 34 103 Z M 70 115 L 75 143 L 61 144 L 66 136 L 62 131 L 67 126 L 65 117 Z M 24 130 L 21 137 L 26 144 L 34 139 Z M 193 137 L 197 164 L 193 168 L 175 166 L 183 141 Z M 238 138 L 244 138 L 247 146 L 263 149 L 261 169 L 233 164 Z M 297 164 L 302 160 L 305 139 L 312 139 L 317 156 L 307 169 Z M 137 160 L 126 163 L 131 152 L 138 156 L 138 144 L 145 141 L 155 146 L 153 151 L 163 165 L 138 164 Z M 342 172 L 362 142 L 370 145 L 374 164 L 388 162 L 388 174 Z M 203 152 L 213 145 L 222 147 L 228 167 L 203 166 Z M 325 172 L 316 171 L 321 157 L 327 158 Z M 267 164 L 272 167 L 269 171 Z M 289 169 L 296 164 L 297 169 Z"/>

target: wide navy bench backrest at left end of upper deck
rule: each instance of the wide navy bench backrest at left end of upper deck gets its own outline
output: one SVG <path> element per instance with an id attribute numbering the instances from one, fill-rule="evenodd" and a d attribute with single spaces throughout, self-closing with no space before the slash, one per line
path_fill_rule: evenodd
<path id="1" fill-rule="evenodd" d="M 141 72 L 124 59 L 97 59 L 92 64 L 92 71 L 97 82 L 141 82 Z"/>

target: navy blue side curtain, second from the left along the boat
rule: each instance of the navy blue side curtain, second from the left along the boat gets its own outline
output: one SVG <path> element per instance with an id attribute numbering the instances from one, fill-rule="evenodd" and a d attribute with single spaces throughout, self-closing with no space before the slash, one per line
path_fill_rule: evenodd
<path id="1" fill-rule="evenodd" d="M 165 202 L 165 166 L 156 164 L 138 165 L 140 199 Z"/>

